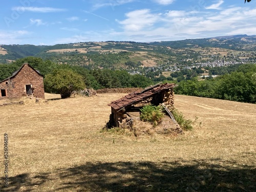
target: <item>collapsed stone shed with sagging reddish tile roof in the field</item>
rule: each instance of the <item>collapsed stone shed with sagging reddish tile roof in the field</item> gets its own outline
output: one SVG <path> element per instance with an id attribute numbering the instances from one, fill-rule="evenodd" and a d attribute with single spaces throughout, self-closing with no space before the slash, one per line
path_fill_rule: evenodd
<path id="1" fill-rule="evenodd" d="M 112 101 L 110 121 L 106 126 L 132 126 L 133 119 L 139 119 L 140 109 L 148 104 L 162 104 L 166 110 L 174 109 L 175 83 L 156 84 L 142 91 L 125 95 L 121 99 Z"/>

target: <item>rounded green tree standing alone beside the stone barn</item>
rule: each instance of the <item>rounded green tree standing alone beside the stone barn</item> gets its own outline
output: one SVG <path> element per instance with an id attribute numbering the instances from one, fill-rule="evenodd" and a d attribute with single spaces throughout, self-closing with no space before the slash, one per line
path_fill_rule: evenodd
<path id="1" fill-rule="evenodd" d="M 60 94 L 61 98 L 68 98 L 73 91 L 86 87 L 83 77 L 71 69 L 54 70 L 45 76 L 44 82 L 47 92 Z"/>

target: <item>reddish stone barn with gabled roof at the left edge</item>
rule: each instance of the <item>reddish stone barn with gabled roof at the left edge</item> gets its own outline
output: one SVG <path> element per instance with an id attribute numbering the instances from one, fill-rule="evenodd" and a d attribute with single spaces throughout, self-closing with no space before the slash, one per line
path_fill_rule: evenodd
<path id="1" fill-rule="evenodd" d="M 0 99 L 24 96 L 45 98 L 44 78 L 28 63 L 25 63 L 12 76 L 0 81 L 0 90 Z"/>

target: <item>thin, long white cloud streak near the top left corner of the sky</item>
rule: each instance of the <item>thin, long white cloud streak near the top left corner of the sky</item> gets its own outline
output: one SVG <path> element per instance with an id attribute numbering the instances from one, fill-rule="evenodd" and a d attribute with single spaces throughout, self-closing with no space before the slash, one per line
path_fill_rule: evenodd
<path id="1" fill-rule="evenodd" d="M 25 11 L 39 12 L 39 13 L 66 11 L 66 9 L 51 8 L 51 7 L 13 7 L 12 10 L 17 11 L 18 13 L 22 13 Z"/>

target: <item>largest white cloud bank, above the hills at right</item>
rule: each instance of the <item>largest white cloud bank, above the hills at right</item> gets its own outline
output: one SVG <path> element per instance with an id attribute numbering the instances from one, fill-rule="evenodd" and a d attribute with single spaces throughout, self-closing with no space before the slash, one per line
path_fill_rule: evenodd
<path id="1" fill-rule="evenodd" d="M 119 36 L 134 41 L 178 40 L 229 34 L 255 34 L 256 10 L 231 7 L 225 10 L 152 13 L 149 9 L 126 13 L 117 20 L 123 28 Z"/>

